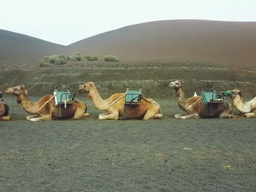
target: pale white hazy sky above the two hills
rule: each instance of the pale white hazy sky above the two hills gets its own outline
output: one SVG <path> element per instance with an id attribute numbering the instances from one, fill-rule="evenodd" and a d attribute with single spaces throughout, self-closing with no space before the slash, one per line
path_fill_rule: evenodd
<path id="1" fill-rule="evenodd" d="M 0 0 L 0 28 L 69 45 L 154 20 L 256 21 L 254 0 Z"/>

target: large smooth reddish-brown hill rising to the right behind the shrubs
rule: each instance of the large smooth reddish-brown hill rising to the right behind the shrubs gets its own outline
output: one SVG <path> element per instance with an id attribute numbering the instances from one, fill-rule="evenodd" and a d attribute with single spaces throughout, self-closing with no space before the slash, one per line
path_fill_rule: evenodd
<path id="1" fill-rule="evenodd" d="M 256 22 L 164 20 L 118 28 L 68 46 L 122 61 L 183 61 L 254 69 Z"/>

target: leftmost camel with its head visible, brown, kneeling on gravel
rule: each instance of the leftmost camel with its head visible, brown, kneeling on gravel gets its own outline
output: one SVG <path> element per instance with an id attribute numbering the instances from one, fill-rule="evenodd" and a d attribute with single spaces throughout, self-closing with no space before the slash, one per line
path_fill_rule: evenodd
<path id="1" fill-rule="evenodd" d="M 39 101 L 32 102 L 28 98 L 28 90 L 24 85 L 18 85 L 13 88 L 7 88 L 6 93 L 12 93 L 17 96 L 18 104 L 21 104 L 23 110 L 33 114 L 27 116 L 27 120 L 39 121 L 39 120 L 52 120 L 59 119 L 59 108 L 56 107 L 53 95 L 42 96 Z M 81 101 L 75 100 L 74 104 L 68 104 L 67 109 L 61 105 L 61 118 L 73 118 L 78 119 L 86 117 L 89 114 L 86 113 L 86 104 Z"/>

